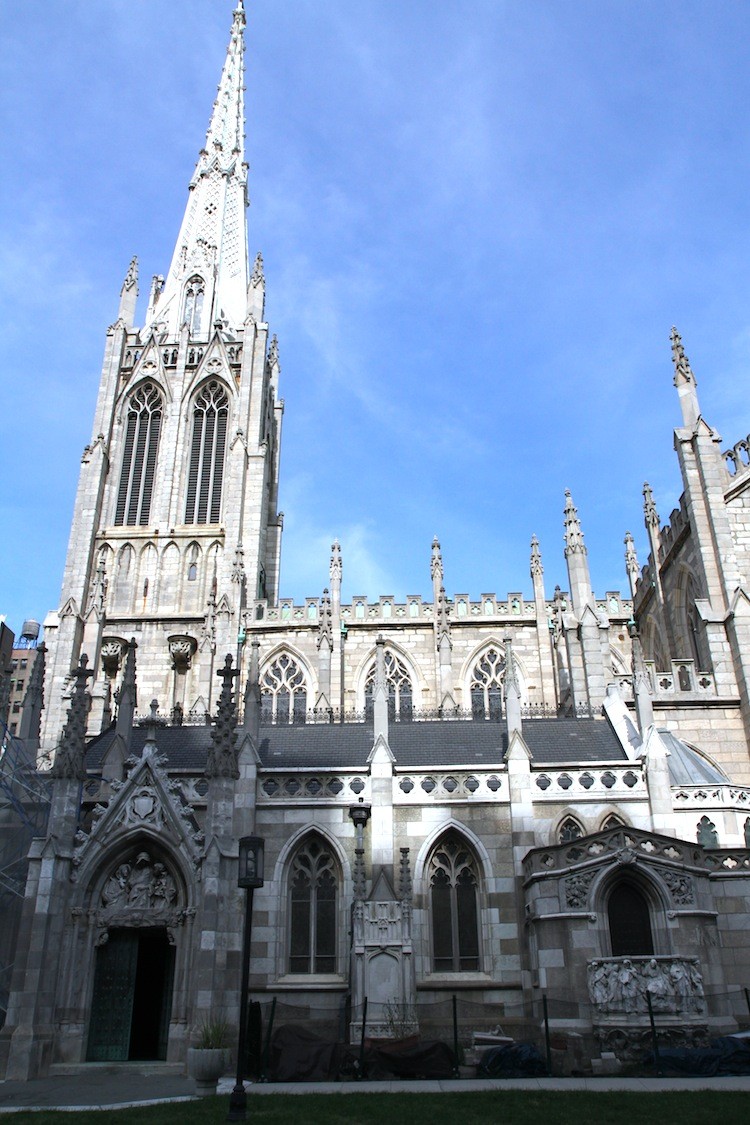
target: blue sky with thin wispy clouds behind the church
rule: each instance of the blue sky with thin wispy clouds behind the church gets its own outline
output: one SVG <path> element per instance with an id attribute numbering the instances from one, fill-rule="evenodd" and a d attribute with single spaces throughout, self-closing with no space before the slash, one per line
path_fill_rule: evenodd
<path id="1" fill-rule="evenodd" d="M 6 0 L 0 613 L 60 596 L 106 327 L 169 266 L 232 0 Z M 598 594 L 679 496 L 669 328 L 750 430 L 750 6 L 252 0 L 250 250 L 286 399 L 282 593 Z"/>

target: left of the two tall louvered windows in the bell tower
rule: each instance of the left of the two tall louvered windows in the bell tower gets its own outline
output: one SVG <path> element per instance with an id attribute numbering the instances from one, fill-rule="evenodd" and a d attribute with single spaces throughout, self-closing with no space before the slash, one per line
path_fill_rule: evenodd
<path id="1" fill-rule="evenodd" d="M 162 397 L 153 382 L 144 382 L 130 399 L 115 510 L 118 525 L 148 523 L 162 411 Z"/>

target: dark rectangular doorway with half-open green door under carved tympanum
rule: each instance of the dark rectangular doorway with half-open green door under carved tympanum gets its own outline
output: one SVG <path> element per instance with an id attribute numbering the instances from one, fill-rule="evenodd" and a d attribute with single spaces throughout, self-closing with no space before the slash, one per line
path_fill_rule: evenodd
<path id="1" fill-rule="evenodd" d="M 166 1059 L 173 978 L 165 926 L 110 929 L 97 950 L 87 1061 Z"/>

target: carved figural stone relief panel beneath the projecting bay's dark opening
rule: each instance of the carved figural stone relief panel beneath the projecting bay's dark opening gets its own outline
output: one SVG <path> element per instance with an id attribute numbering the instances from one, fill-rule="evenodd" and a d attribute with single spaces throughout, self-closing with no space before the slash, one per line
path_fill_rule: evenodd
<path id="1" fill-rule="evenodd" d="M 698 1020 L 705 1017 L 703 975 L 697 957 L 604 957 L 588 963 L 594 1023 L 656 1014 Z"/>

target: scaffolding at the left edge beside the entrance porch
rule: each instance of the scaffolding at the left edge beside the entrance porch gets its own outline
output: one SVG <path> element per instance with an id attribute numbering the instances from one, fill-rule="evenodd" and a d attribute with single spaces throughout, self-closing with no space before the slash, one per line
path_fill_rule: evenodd
<path id="1" fill-rule="evenodd" d="M 51 778 L 26 745 L 0 723 L 0 1026 L 4 1023 L 28 871 L 28 850 L 45 836 Z"/>

